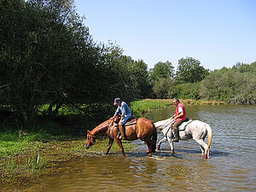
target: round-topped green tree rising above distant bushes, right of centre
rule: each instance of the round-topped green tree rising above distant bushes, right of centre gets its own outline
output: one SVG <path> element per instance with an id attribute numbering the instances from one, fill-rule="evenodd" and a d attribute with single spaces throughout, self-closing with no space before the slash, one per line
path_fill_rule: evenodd
<path id="1" fill-rule="evenodd" d="M 176 83 L 196 83 L 204 79 L 208 70 L 201 66 L 201 62 L 192 57 L 182 58 L 178 61 Z"/>

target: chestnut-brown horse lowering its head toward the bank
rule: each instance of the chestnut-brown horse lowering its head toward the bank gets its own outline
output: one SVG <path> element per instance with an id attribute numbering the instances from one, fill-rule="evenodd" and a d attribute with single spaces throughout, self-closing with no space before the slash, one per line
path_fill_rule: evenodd
<path id="1" fill-rule="evenodd" d="M 85 148 L 90 148 L 90 146 L 95 143 L 96 137 L 108 135 L 109 143 L 106 154 L 108 154 L 114 140 L 116 143 L 118 143 L 122 154 L 126 156 L 122 142 L 117 138 L 118 133 L 118 124 L 115 123 L 112 118 L 110 118 L 103 122 L 101 125 L 97 125 L 96 128 L 94 128 L 92 131 L 87 131 Z M 137 123 L 135 125 L 125 125 L 125 140 L 133 141 L 138 138 L 147 143 L 148 151 L 146 153 L 148 155 L 151 155 L 155 152 L 157 131 L 152 121 L 145 118 L 140 118 L 137 119 Z"/>

